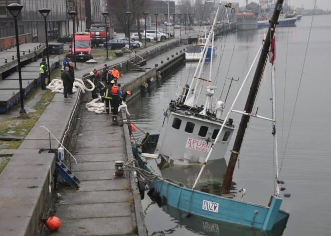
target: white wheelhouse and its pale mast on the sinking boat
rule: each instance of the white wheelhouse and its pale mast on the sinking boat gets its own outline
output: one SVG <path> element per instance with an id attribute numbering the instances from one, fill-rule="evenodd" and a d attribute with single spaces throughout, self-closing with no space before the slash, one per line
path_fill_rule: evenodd
<path id="1" fill-rule="evenodd" d="M 220 11 L 219 7 L 216 16 Z M 164 112 L 156 152 L 171 164 L 204 163 L 211 148 L 215 150 L 210 157 L 211 160 L 224 158 L 235 130 L 231 118 L 222 119 L 225 103 L 214 96 L 217 87 L 212 86 L 216 22 L 217 17 L 211 30 L 199 38 L 197 46 L 202 48 L 202 52 L 191 84 L 177 87 L 175 99 Z M 209 53 L 210 63 L 207 64 Z M 208 66 L 209 70 L 206 69 Z M 223 124 L 224 128 L 219 134 Z M 218 134 L 221 138 L 216 141 L 217 145 L 212 147 Z"/>

